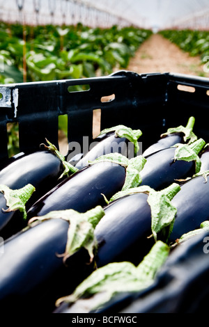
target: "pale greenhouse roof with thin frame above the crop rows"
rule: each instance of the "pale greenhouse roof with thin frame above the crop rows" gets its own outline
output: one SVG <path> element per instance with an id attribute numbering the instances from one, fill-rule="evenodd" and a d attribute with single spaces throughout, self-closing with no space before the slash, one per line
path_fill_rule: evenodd
<path id="1" fill-rule="evenodd" d="M 208 0 L 0 0 L 4 22 L 144 29 L 209 28 Z"/>

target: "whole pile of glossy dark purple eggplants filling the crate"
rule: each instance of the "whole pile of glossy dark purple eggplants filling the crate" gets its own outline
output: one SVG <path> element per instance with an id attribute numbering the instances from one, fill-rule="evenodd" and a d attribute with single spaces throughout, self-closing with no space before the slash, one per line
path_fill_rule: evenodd
<path id="1" fill-rule="evenodd" d="M 3 163 L 3 312 L 105 310 L 153 285 L 176 248 L 208 226 L 209 151 L 194 122 L 168 129 L 142 154 L 143 131 L 118 125 L 75 166 L 47 139 Z"/>

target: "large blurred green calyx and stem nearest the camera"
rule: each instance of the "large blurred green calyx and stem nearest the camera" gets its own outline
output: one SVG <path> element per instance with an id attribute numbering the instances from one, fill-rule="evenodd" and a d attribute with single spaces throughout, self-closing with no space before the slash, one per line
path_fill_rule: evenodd
<path id="1" fill-rule="evenodd" d="M 120 292 L 141 292 L 153 284 L 156 273 L 160 271 L 168 255 L 169 246 L 157 241 L 138 266 L 131 262 L 113 262 L 102 266 L 78 285 L 70 296 L 59 298 L 56 306 L 100 294 L 98 301 L 89 304 L 90 312 L 102 308 Z"/>

